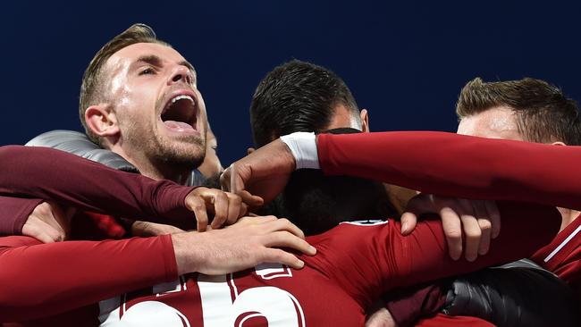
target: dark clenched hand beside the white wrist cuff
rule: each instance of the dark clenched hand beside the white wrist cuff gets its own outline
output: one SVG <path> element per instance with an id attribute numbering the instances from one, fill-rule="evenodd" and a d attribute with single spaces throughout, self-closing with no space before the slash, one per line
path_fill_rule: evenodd
<path id="1" fill-rule="evenodd" d="M 276 139 L 228 167 L 220 182 L 248 205 L 260 206 L 282 192 L 295 167 L 289 147 Z"/>

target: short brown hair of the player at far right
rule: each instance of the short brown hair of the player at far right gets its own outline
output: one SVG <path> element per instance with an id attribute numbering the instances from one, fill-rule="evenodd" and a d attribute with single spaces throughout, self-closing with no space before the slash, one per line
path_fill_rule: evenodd
<path id="1" fill-rule="evenodd" d="M 543 80 L 470 80 L 460 92 L 456 113 L 462 119 L 501 105 L 516 113 L 518 131 L 526 140 L 581 145 L 577 104 L 564 96 L 559 88 Z"/>

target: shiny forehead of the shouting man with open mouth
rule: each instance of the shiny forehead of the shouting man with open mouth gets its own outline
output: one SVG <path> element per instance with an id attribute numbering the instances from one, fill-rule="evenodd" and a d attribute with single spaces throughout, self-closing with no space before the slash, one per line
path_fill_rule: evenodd
<path id="1" fill-rule="evenodd" d="M 129 67 L 131 63 L 135 63 L 140 57 L 148 55 L 155 55 L 168 63 L 185 61 L 183 56 L 170 46 L 158 43 L 136 43 L 131 46 L 125 46 L 111 55 L 105 63 L 105 67 L 109 70 L 120 70 Z"/>

